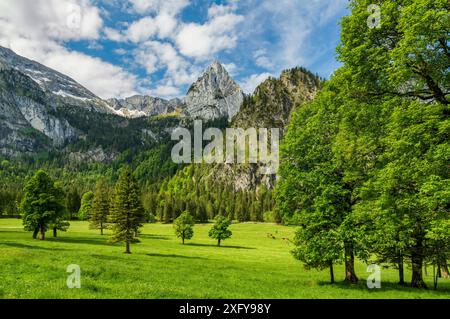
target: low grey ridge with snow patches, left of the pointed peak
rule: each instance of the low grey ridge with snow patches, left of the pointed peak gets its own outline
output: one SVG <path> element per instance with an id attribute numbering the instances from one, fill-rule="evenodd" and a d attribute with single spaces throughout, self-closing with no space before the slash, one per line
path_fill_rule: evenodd
<path id="1" fill-rule="evenodd" d="M 136 118 L 176 112 L 183 106 L 180 99 L 164 100 L 147 95 L 134 95 L 126 99 L 109 99 L 108 104 L 116 114 Z"/>

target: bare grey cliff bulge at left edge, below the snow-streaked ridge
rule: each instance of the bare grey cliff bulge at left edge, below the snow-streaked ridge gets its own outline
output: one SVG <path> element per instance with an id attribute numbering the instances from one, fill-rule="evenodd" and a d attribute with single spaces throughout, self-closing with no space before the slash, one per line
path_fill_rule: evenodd
<path id="1" fill-rule="evenodd" d="M 32 152 L 74 138 L 76 130 L 55 115 L 55 103 L 28 76 L 1 64 L 0 153 Z"/>

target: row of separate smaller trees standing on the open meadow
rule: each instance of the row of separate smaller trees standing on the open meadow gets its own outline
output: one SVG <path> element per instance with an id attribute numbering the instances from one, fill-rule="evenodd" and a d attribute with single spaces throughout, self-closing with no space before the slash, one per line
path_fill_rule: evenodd
<path id="1" fill-rule="evenodd" d="M 45 239 L 48 229 L 53 229 L 56 237 L 57 230 L 65 231 L 69 227 L 65 196 L 59 183 L 53 181 L 49 175 L 39 170 L 25 186 L 25 195 L 21 203 L 25 230 L 33 231 L 33 238 Z M 88 194 L 88 195 L 86 195 Z M 100 179 L 95 192 L 86 193 L 89 200 L 82 200 L 80 212 L 89 211 L 90 228 L 103 230 L 110 228 L 112 235 L 110 242 L 124 242 L 125 253 L 131 253 L 130 244 L 138 242 L 139 228 L 145 222 L 144 208 L 141 204 L 140 188 L 133 177 L 130 168 L 124 168 L 110 196 L 110 189 L 105 179 Z M 70 203 L 70 202 L 69 202 Z M 86 208 L 89 206 L 89 209 Z M 228 230 L 230 220 L 218 215 L 209 232 L 211 238 L 221 241 L 231 236 Z M 184 241 L 191 239 L 194 232 L 194 218 L 185 211 L 174 220 L 177 237 Z"/>

